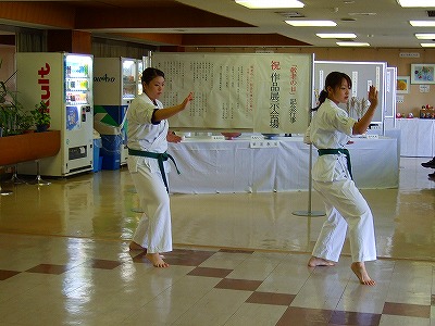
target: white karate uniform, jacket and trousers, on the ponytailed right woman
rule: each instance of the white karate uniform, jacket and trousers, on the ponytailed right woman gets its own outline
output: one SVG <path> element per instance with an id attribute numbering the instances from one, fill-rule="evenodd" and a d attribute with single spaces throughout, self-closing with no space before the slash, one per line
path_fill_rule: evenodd
<path id="1" fill-rule="evenodd" d="M 343 149 L 356 121 L 330 99 L 319 108 L 304 135 L 318 149 Z M 353 262 L 376 260 L 372 212 L 347 168 L 345 154 L 319 156 L 312 168 L 313 188 L 325 202 L 323 224 L 312 255 L 338 262 L 346 231 Z"/>

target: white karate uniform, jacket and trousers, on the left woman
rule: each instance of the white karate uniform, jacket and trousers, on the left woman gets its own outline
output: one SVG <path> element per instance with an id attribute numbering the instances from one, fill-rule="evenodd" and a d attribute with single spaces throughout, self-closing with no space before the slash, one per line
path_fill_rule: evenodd
<path id="1" fill-rule="evenodd" d="M 128 148 L 148 152 L 164 153 L 167 149 L 167 121 L 152 124 L 152 113 L 162 109 L 142 93 L 135 98 L 127 110 Z M 163 162 L 165 172 L 170 171 L 169 162 Z M 170 197 L 164 186 L 158 160 L 128 155 L 128 171 L 140 198 L 144 210 L 133 241 L 147 248 L 149 253 L 172 251 L 172 229 Z M 167 177 L 166 177 L 167 180 Z"/>

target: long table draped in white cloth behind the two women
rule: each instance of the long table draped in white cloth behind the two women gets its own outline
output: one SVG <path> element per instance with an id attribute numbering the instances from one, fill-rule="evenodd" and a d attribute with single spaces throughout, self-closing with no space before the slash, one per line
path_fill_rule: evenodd
<path id="1" fill-rule="evenodd" d="M 359 188 L 397 188 L 399 158 L 394 138 L 353 138 L 348 146 Z M 308 190 L 310 146 L 301 137 L 281 137 L 270 147 L 250 139 L 191 139 L 170 143 L 181 175 L 172 168 L 174 193 L 271 192 Z M 312 148 L 312 160 L 318 158 Z"/>

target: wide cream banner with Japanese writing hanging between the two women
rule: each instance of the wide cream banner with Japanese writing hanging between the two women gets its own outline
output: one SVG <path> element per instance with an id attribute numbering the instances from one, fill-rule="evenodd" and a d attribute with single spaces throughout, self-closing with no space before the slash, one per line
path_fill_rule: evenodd
<path id="1" fill-rule="evenodd" d="M 161 53 L 151 66 L 165 74 L 164 106 L 195 92 L 170 121 L 190 129 L 301 134 L 309 123 L 312 54 Z"/>

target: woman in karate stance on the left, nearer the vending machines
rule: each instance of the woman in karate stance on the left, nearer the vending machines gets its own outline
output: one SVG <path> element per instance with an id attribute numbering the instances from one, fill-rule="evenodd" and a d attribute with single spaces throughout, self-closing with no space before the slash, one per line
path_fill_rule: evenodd
<path id="1" fill-rule="evenodd" d="M 156 267 L 167 267 L 160 253 L 172 251 L 171 209 L 167 187 L 167 140 L 179 141 L 169 133 L 167 118 L 185 110 L 194 95 L 175 106 L 163 108 L 159 101 L 164 89 L 164 73 L 148 67 L 141 76 L 144 92 L 127 110 L 128 171 L 144 210 L 129 243 L 130 250 L 146 251 L 146 258 Z"/>

